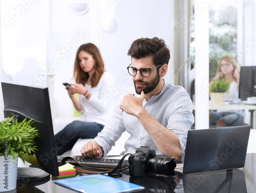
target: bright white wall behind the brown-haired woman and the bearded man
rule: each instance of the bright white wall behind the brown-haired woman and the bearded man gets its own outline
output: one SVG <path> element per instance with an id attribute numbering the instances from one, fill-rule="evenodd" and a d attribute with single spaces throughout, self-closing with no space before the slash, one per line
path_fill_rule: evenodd
<path id="1" fill-rule="evenodd" d="M 3 69 L 15 83 L 51 87 L 53 116 L 73 116 L 73 106 L 62 83 L 71 81 L 76 50 L 83 43 L 92 41 L 99 46 L 105 69 L 117 83 L 113 100 L 124 88 L 133 85 L 126 67 L 131 62 L 127 51 L 135 39 L 162 38 L 173 57 L 174 1 L 13 0 L 0 3 Z M 91 12 L 89 7 L 89 12 L 75 14 L 71 9 L 74 3 L 90 4 Z M 116 24 L 112 25 L 114 30 L 106 25 L 108 20 Z M 100 27 L 97 31 L 97 24 L 103 26 L 103 31 Z M 165 77 L 168 82 L 173 80 L 172 61 L 173 58 Z M 50 81 L 49 74 L 54 75 Z"/>

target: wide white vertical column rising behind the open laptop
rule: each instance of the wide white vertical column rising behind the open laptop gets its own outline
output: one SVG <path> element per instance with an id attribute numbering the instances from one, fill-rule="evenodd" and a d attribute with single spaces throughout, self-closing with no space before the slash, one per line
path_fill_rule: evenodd
<path id="1" fill-rule="evenodd" d="M 209 2 L 195 2 L 195 128 L 209 127 Z"/>

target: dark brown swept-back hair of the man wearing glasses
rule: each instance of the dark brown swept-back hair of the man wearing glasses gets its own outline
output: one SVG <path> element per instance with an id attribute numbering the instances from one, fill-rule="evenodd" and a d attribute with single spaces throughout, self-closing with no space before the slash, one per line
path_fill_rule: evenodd
<path id="1" fill-rule="evenodd" d="M 140 59 L 146 56 L 153 56 L 155 66 L 160 64 L 168 64 L 170 59 L 170 51 L 163 39 L 154 38 L 140 38 L 135 40 L 129 51 L 128 56 Z"/>

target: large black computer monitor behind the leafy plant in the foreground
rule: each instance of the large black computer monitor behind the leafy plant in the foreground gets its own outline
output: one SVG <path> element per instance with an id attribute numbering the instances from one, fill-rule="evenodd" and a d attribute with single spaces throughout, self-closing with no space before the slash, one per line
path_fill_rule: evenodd
<path id="1" fill-rule="evenodd" d="M 39 132 L 36 137 L 36 159 L 45 172 L 58 176 L 57 151 L 53 134 L 48 88 L 2 82 L 4 116 L 16 115 L 19 122 L 33 119 L 32 127 Z M 30 162 L 29 160 L 26 160 Z"/>

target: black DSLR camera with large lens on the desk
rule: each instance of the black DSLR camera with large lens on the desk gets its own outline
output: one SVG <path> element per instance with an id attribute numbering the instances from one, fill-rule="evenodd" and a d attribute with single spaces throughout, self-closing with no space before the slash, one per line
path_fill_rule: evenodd
<path id="1" fill-rule="evenodd" d="M 131 177 L 144 177 L 153 172 L 166 176 L 174 176 L 175 158 L 156 156 L 154 148 L 141 146 L 136 153 L 129 156 L 129 173 Z"/>

